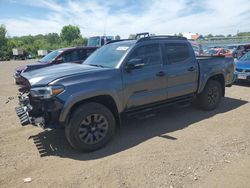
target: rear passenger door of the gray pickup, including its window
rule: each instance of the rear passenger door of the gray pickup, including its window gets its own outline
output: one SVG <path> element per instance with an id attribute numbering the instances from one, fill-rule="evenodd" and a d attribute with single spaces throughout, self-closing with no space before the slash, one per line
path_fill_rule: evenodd
<path id="1" fill-rule="evenodd" d="M 195 93 L 198 88 L 198 63 L 187 42 L 165 43 L 168 98 Z"/>

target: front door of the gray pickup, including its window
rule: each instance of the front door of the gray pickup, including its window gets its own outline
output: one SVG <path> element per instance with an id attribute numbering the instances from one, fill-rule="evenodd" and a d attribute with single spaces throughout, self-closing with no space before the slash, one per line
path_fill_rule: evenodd
<path id="1" fill-rule="evenodd" d="M 132 59 L 141 59 L 143 66 L 127 71 Z M 161 46 L 157 43 L 136 47 L 123 67 L 124 98 L 127 109 L 139 107 L 167 98 L 166 74 L 163 72 Z"/>

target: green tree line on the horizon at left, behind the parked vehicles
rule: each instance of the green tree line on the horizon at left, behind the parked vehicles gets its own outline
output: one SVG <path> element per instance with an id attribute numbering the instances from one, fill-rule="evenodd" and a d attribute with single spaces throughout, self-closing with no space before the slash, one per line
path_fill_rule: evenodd
<path id="1" fill-rule="evenodd" d="M 37 50 L 56 50 L 68 46 L 84 46 L 87 38 L 83 38 L 76 26 L 64 26 L 61 36 L 57 33 L 47 35 L 27 35 L 20 37 L 6 37 L 7 30 L 0 25 L 0 59 L 12 56 L 13 48 L 21 48 L 27 54 L 37 55 Z"/>

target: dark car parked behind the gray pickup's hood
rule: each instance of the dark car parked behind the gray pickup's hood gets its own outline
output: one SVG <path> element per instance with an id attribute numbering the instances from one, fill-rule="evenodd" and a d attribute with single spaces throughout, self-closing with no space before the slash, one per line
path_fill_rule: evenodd
<path id="1" fill-rule="evenodd" d="M 16 69 L 14 78 L 16 84 L 22 84 L 21 74 L 36 69 L 57 65 L 61 63 L 82 63 L 98 47 L 72 47 L 62 48 L 50 52 L 36 63 L 20 66 Z"/>

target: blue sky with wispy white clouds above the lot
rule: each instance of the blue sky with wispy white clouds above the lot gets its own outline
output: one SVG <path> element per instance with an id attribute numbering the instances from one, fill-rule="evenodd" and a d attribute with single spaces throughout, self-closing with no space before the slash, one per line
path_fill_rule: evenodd
<path id="1" fill-rule="evenodd" d="M 250 0 L 0 0 L 0 24 L 10 36 L 60 33 L 68 24 L 85 37 L 236 34 L 250 31 Z"/>

